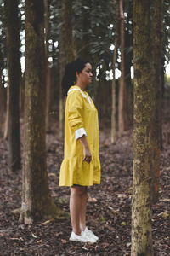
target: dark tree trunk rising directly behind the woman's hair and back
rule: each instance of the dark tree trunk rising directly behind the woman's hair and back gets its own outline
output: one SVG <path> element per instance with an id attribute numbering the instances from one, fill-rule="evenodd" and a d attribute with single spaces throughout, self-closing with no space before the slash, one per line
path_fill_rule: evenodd
<path id="1" fill-rule="evenodd" d="M 59 38 L 59 137 L 64 137 L 64 109 L 65 100 L 62 94 L 61 81 L 65 72 L 65 65 L 74 59 L 72 43 L 72 1 L 62 1 L 61 31 Z"/>

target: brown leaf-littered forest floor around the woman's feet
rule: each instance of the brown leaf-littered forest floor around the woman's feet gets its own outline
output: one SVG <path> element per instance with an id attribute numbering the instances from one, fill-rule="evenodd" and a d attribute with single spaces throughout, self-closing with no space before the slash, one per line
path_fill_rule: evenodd
<path id="1" fill-rule="evenodd" d="M 155 256 L 170 255 L 170 102 L 164 105 L 160 199 L 152 218 Z M 125 132 L 113 145 L 109 125 L 109 121 L 100 121 L 101 184 L 88 189 L 88 227 L 99 236 L 95 244 L 69 241 L 69 217 L 31 225 L 19 223 L 21 172 L 8 171 L 7 142 L 0 137 L 0 255 L 130 256 L 133 132 Z M 57 137 L 57 127 L 53 121 L 47 134 L 49 187 L 56 204 L 69 212 L 70 189 L 59 188 L 63 143 Z"/>

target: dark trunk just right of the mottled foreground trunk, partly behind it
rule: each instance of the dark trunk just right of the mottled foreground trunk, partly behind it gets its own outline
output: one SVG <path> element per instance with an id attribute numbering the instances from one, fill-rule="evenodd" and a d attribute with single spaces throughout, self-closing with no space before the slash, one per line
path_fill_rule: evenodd
<path id="1" fill-rule="evenodd" d="M 152 201 L 158 201 L 158 187 L 160 174 L 161 149 L 161 108 L 162 108 L 162 81 L 161 55 L 163 49 L 163 0 L 153 1 L 152 13 L 152 84 L 153 96 L 156 98 L 155 113 L 152 119 Z"/>

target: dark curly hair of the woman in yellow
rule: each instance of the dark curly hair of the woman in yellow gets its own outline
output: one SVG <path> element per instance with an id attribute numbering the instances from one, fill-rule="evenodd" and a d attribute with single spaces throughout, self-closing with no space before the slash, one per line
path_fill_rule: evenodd
<path id="1" fill-rule="evenodd" d="M 67 91 L 69 88 L 74 85 L 77 81 L 77 73 L 81 73 L 82 69 L 86 66 L 89 61 L 83 61 L 81 59 L 77 59 L 76 61 L 72 61 L 68 63 L 65 67 L 65 74 L 62 79 L 62 88 L 64 96 L 67 95 Z"/>

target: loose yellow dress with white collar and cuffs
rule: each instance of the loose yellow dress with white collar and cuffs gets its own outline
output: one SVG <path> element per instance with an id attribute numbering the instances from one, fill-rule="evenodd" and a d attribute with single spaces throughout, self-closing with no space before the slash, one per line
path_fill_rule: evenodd
<path id="1" fill-rule="evenodd" d="M 92 160 L 83 161 L 82 143 L 87 135 Z M 65 105 L 65 150 L 60 167 L 59 186 L 92 186 L 100 183 L 98 112 L 88 92 L 71 86 Z"/>

